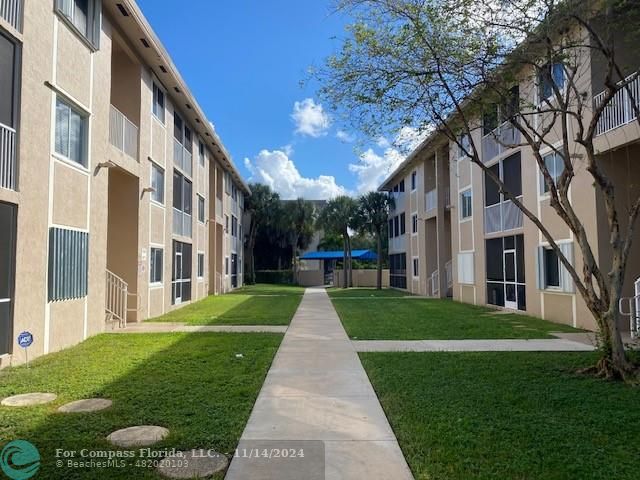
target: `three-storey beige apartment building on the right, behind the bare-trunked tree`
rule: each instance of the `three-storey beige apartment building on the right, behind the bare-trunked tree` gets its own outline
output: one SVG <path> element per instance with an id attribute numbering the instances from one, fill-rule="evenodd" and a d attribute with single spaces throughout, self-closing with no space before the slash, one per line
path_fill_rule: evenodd
<path id="1" fill-rule="evenodd" d="M 620 35 L 622 43 L 623 32 Z M 628 47 L 623 49 L 621 55 L 628 57 L 628 65 L 636 65 L 637 68 L 637 54 L 633 53 L 635 50 L 630 45 Z M 576 82 L 586 98 L 591 98 L 597 104 L 605 89 L 604 66 L 597 57 L 587 56 L 583 62 L 588 68 L 581 69 L 581 76 Z M 562 87 L 565 80 L 561 65 L 550 65 L 549 69 L 556 84 Z M 627 74 L 632 75 L 633 69 Z M 548 98 L 551 88 L 545 79 L 532 78 L 531 75 L 523 78 L 514 87 L 515 98 L 524 100 L 521 103 L 535 105 L 545 95 Z M 636 92 L 637 98 L 640 79 L 636 78 L 631 88 Z M 508 122 L 499 121 L 499 108 L 496 106 L 495 112 L 488 112 L 481 120 L 478 119 L 477 128 L 472 131 L 473 142 L 481 150 L 480 160 L 492 169 L 509 191 L 515 193 L 537 214 L 565 256 L 581 271 L 580 249 L 575 244 L 572 232 L 549 204 L 548 186 L 531 149 L 517 146 L 522 143 L 520 133 Z M 546 119 L 540 117 L 536 121 L 543 124 Z M 569 123 L 569 138 L 573 138 L 573 128 L 575 125 Z M 561 128 L 558 126 L 551 130 L 548 138 L 555 136 L 557 147 L 561 145 L 561 135 Z M 468 138 L 462 140 L 469 142 Z M 511 145 L 514 147 L 511 148 Z M 640 195 L 640 128 L 625 92 L 620 92 L 613 99 L 600 119 L 596 148 L 603 169 L 614 182 L 619 211 L 626 212 L 631 202 Z M 594 186 L 591 174 L 580 165 L 581 147 L 573 145 L 571 151 L 576 175 L 570 189 L 570 200 L 584 223 L 596 260 L 600 262 L 603 271 L 607 272 L 606 262 L 610 258 L 611 246 L 604 201 Z M 421 179 L 421 175 L 424 176 L 428 159 L 434 156 L 434 152 L 436 175 L 435 184 L 431 184 Z M 442 166 L 442 175 L 438 175 L 437 167 L 441 165 L 438 152 L 444 157 L 442 163 L 448 165 L 448 168 Z M 542 153 L 554 178 L 559 178 L 564 168 L 561 159 L 551 148 L 546 154 Z M 442 221 L 436 220 L 438 230 L 435 236 L 430 235 L 429 229 L 421 222 L 420 196 L 423 192 L 418 189 L 415 194 L 409 194 L 409 199 L 406 198 L 409 178 L 414 175 L 419 179 L 418 187 L 424 185 L 426 189 L 427 208 L 430 205 L 438 206 L 436 219 L 440 214 L 445 215 Z M 431 194 L 430 201 L 428 195 L 434 188 L 435 193 Z M 436 261 L 438 270 L 442 271 L 442 263 L 451 258 L 451 293 L 456 300 L 523 311 L 575 327 L 596 328 L 595 321 L 576 292 L 568 271 L 560 264 L 538 228 L 500 193 L 495 182 L 478 165 L 465 157 L 457 143 L 449 142 L 443 133 L 434 133 L 420 145 L 380 189 L 393 192 L 395 198 L 400 197 L 400 207 L 396 207 L 396 210 L 404 213 L 400 214 L 400 236 L 397 236 L 395 212 L 389 223 L 391 230 L 393 222 L 394 237 L 390 239 L 390 245 L 393 245 L 390 246 L 391 266 L 394 266 L 394 257 L 398 258 L 400 255 L 400 271 L 409 269 L 406 287 L 403 282 L 398 282 L 395 286 L 424 294 L 422 285 L 428 286 L 430 281 L 433 284 L 430 275 L 433 275 L 431 272 L 436 268 Z M 441 190 L 452 192 L 450 199 L 446 194 L 438 193 Z M 440 207 L 441 201 L 444 202 L 443 207 Z M 406 237 L 402 234 L 412 225 L 409 215 L 416 213 L 417 238 L 405 240 Z M 407 222 L 406 226 L 402 226 L 403 219 Z M 621 219 L 623 227 L 626 226 L 625 221 L 625 218 Z M 440 238 L 446 240 L 441 242 Z M 450 243 L 444 246 L 447 242 Z M 447 257 L 448 252 L 450 257 Z M 439 283 L 442 289 L 442 278 L 439 278 Z M 427 287 L 426 294 L 433 293 Z M 640 242 L 637 241 L 629 258 L 623 288 L 623 296 L 634 295 L 640 295 Z M 636 301 L 640 304 L 640 301 Z M 637 308 L 640 311 L 640 305 Z M 625 324 L 623 328 L 628 330 L 629 325 Z"/>

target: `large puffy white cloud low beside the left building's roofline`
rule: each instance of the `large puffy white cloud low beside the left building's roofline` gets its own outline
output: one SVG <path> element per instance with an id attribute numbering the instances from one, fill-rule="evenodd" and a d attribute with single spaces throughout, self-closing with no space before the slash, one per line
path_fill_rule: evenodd
<path id="1" fill-rule="evenodd" d="M 303 177 L 283 150 L 261 150 L 253 161 L 245 158 L 244 165 L 251 172 L 250 181 L 269 185 L 285 200 L 324 200 L 349 193 L 333 176 Z"/>

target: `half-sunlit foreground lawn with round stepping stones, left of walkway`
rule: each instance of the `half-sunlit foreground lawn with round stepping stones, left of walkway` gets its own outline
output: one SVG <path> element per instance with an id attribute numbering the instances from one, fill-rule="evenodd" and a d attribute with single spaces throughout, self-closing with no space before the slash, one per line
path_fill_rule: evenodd
<path id="1" fill-rule="evenodd" d="M 0 446 L 24 439 L 37 446 L 35 478 L 161 478 L 153 469 L 56 468 L 56 448 L 114 450 L 109 433 L 159 425 L 168 438 L 152 449 L 214 448 L 233 452 L 282 336 L 276 334 L 104 334 L 38 359 L 31 368 L 0 372 L 0 398 L 51 392 L 48 405 L 0 406 Z M 242 353 L 242 358 L 236 358 Z M 107 410 L 62 414 L 60 405 L 82 398 L 113 401 Z M 221 478 L 221 477 L 220 477 Z"/>

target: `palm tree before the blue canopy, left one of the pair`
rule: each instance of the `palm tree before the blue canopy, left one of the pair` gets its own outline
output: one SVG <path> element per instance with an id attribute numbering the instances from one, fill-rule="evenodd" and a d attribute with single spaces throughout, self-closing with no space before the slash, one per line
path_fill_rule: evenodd
<path id="1" fill-rule="evenodd" d="M 347 288 L 351 284 L 350 260 L 351 260 L 351 238 L 349 229 L 353 228 L 356 218 L 357 204 L 356 201 L 345 195 L 329 200 L 327 205 L 320 213 L 318 224 L 327 233 L 338 234 L 342 236 L 343 245 L 343 288 Z"/>

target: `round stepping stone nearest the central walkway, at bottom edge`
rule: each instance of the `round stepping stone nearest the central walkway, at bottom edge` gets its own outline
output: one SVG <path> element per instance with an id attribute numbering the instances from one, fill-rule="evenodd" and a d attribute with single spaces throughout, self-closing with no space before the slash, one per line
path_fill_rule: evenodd
<path id="1" fill-rule="evenodd" d="M 223 454 L 196 449 L 164 458 L 157 470 L 168 478 L 209 478 L 222 472 L 228 465 L 229 459 Z"/>

